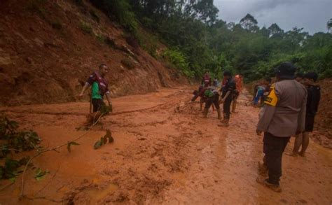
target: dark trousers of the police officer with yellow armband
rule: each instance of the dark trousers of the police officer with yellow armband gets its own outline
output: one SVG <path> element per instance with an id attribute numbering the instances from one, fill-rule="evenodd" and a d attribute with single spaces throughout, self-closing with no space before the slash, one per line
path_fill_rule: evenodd
<path id="1" fill-rule="evenodd" d="M 282 153 L 291 137 L 274 136 L 264 133 L 263 153 L 265 153 L 265 165 L 268 167 L 268 182 L 279 185 L 282 176 Z"/>

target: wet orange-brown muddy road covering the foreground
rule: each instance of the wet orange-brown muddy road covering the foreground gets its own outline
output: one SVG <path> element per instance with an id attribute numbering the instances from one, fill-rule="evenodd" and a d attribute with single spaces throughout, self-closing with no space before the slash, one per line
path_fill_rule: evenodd
<path id="1" fill-rule="evenodd" d="M 282 193 L 256 183 L 262 136 L 256 135 L 258 108 L 240 96 L 230 127 L 218 127 L 216 112 L 202 118 L 187 87 L 113 99 L 103 118 L 71 153 L 49 152 L 34 160 L 50 174 L 42 181 L 27 172 L 0 191 L 1 204 L 331 204 L 332 151 L 311 142 L 306 157 L 284 155 Z M 0 108 L 34 129 L 44 147 L 55 147 L 85 131 L 88 103 Z M 94 150 L 110 129 L 114 143 Z M 286 148 L 291 152 L 293 139 Z M 33 154 L 33 153 L 30 153 Z M 1 187 L 8 181 L 1 181 Z"/>

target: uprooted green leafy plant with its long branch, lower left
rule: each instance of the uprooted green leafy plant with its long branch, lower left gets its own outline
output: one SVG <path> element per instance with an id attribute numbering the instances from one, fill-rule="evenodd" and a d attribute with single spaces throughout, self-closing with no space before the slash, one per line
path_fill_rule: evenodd
<path id="1" fill-rule="evenodd" d="M 76 142 L 79 139 L 83 138 L 88 131 L 97 125 L 99 120 L 102 118 L 103 115 L 111 112 L 110 107 L 104 108 L 103 111 L 100 112 L 97 120 L 86 130 L 84 134 L 81 136 L 76 137 L 76 139 L 72 139 L 71 141 L 67 141 L 67 143 L 63 143 L 60 146 L 55 146 L 54 148 L 43 148 L 39 146 L 41 139 L 39 138 L 38 134 L 33 131 L 18 131 L 18 122 L 13 120 L 9 120 L 6 116 L 0 116 L 0 159 L 6 157 L 3 166 L 0 166 L 0 179 L 10 179 L 12 183 L 15 183 L 16 176 L 22 174 L 22 183 L 21 183 L 21 190 L 20 190 L 20 199 L 22 197 L 27 197 L 24 194 L 25 191 L 25 173 L 27 172 L 28 167 L 32 167 L 32 160 L 36 159 L 43 153 L 49 151 L 55 151 L 59 153 L 59 149 L 67 146 L 67 150 L 71 153 L 71 146 L 78 146 L 79 144 Z M 99 146 L 104 144 L 113 142 L 113 137 L 111 136 L 111 132 L 106 130 L 106 135 L 102 137 L 101 141 L 98 143 Z M 8 155 L 12 153 L 19 153 L 26 150 L 36 150 L 36 153 L 31 157 L 24 157 L 21 160 L 14 160 Z M 13 155 L 11 155 L 13 157 Z M 24 168 L 22 167 L 24 166 Z M 39 168 L 35 171 L 34 178 L 36 181 L 40 181 L 43 179 L 49 171 L 43 171 Z M 27 199 L 31 199 L 27 197 Z"/>

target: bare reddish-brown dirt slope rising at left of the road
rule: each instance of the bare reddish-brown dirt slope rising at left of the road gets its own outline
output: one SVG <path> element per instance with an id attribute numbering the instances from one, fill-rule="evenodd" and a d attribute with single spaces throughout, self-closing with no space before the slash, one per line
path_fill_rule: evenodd
<path id="1" fill-rule="evenodd" d="M 113 96 L 184 83 L 88 1 L 74 2 L 0 1 L 0 105 L 74 101 L 100 63 Z"/>

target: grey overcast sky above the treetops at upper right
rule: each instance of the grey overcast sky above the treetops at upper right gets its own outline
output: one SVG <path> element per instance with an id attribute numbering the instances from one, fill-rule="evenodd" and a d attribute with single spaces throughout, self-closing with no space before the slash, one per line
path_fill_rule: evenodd
<path id="1" fill-rule="evenodd" d="M 277 23 L 284 31 L 303 27 L 310 34 L 326 32 L 332 18 L 332 0 L 214 0 L 214 5 L 227 22 L 240 22 L 250 13 L 260 27 Z"/>

